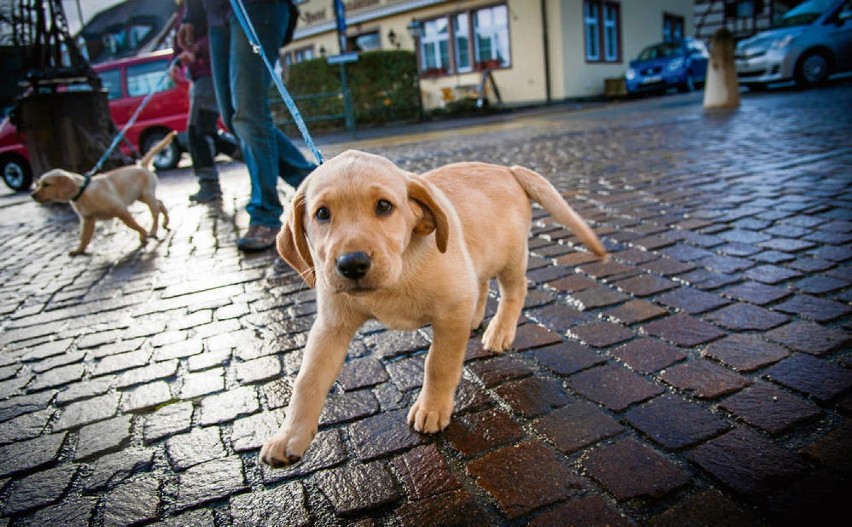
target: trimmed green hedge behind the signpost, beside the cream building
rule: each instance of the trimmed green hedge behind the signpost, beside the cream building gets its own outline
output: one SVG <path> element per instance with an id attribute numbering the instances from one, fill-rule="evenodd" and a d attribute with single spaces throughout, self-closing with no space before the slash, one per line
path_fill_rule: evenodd
<path id="1" fill-rule="evenodd" d="M 345 67 L 358 126 L 417 119 L 420 101 L 413 52 L 361 53 L 357 62 Z M 339 65 L 328 64 L 324 58 L 292 64 L 287 70 L 286 84 L 302 117 L 311 123 L 311 130 L 343 128 Z M 280 101 L 277 90 L 273 100 Z M 276 122 L 284 124 L 288 133 L 295 131 L 283 102 L 275 104 L 273 112 Z M 326 120 L 325 116 L 335 119 Z"/>

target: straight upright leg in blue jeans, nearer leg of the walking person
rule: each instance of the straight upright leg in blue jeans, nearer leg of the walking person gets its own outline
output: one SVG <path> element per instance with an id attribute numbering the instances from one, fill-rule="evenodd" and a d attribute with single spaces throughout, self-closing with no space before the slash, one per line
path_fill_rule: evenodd
<path id="1" fill-rule="evenodd" d="M 249 19 L 270 61 L 278 59 L 278 49 L 287 26 L 284 2 L 255 2 L 246 5 Z M 251 198 L 246 210 L 250 226 L 277 231 L 283 207 L 278 196 L 278 144 L 275 123 L 269 108 L 271 77 L 260 56 L 255 55 L 242 27 L 230 21 L 230 85 L 234 108 L 233 125 L 243 147 L 243 157 L 251 177 Z M 241 240 L 242 241 L 242 240 Z M 274 238 L 270 240 L 274 242 Z M 271 243 L 270 243 L 271 246 Z"/>

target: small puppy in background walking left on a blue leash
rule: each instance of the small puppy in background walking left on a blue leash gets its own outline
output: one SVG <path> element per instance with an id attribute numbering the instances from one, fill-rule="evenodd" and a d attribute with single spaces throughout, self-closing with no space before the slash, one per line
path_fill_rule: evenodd
<path id="1" fill-rule="evenodd" d="M 151 161 L 158 152 L 166 148 L 175 137 L 171 132 L 154 145 L 138 165 L 117 168 L 105 174 L 97 174 L 87 181 L 86 177 L 54 168 L 39 178 L 32 197 L 39 203 L 48 201 L 71 203 L 71 208 L 80 216 L 82 229 L 80 245 L 71 251 L 71 256 L 83 254 L 92 240 L 96 220 L 118 218 L 139 233 L 139 242 L 145 244 L 148 237 L 157 237 L 159 216 L 163 215 L 163 227 L 168 229 L 169 214 L 163 202 L 157 199 L 157 176 L 151 171 Z M 150 232 L 139 225 L 127 210 L 135 201 L 148 205 L 154 223 Z"/>

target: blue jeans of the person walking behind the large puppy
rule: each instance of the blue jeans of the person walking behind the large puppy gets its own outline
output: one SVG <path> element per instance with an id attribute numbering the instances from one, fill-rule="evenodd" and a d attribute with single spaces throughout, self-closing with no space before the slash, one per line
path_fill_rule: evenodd
<path id="1" fill-rule="evenodd" d="M 245 7 L 264 55 L 275 64 L 289 17 L 286 3 L 250 2 Z M 231 16 L 225 26 L 209 27 L 208 36 L 219 112 L 240 139 L 251 177 L 249 223 L 280 228 L 284 209 L 278 176 L 297 186 L 315 165 L 275 126 L 268 97 L 272 78 L 236 17 Z"/>

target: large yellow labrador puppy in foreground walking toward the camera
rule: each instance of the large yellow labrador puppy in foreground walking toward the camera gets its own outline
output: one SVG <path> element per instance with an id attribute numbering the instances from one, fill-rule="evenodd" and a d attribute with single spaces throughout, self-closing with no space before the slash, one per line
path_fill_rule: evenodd
<path id="1" fill-rule="evenodd" d="M 278 251 L 316 287 L 317 318 L 284 423 L 261 460 L 283 466 L 301 459 L 349 342 L 370 319 L 403 330 L 431 324 L 423 388 L 408 422 L 419 432 L 444 429 L 492 277 L 501 300 L 482 344 L 500 352 L 515 338 L 527 291 L 530 200 L 606 256 L 553 185 L 523 167 L 456 163 L 418 176 L 350 150 L 306 178 Z"/>

